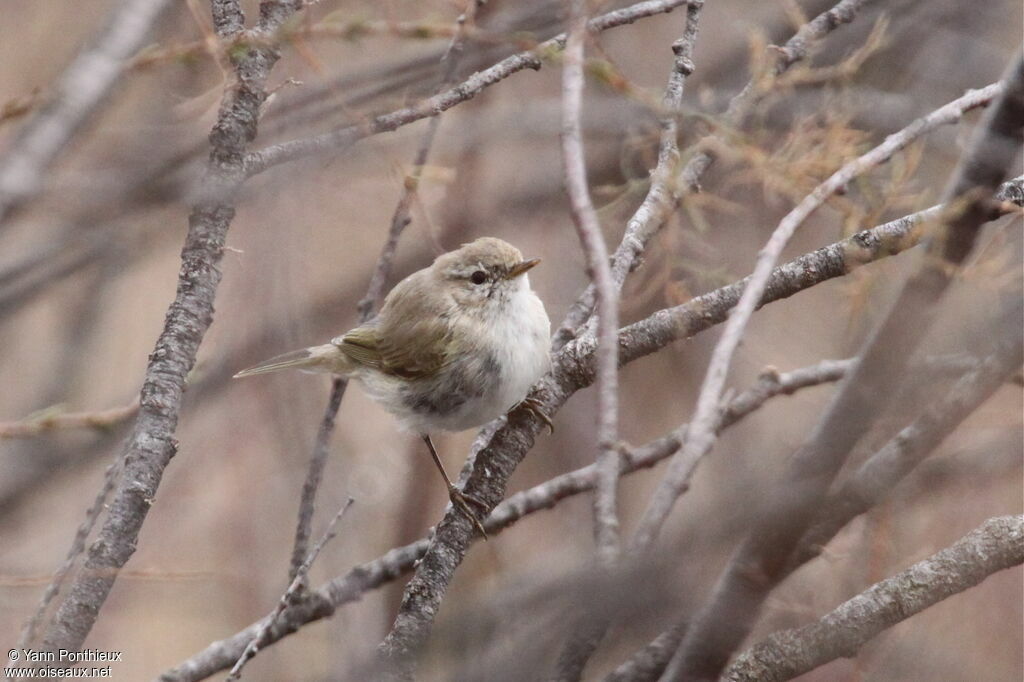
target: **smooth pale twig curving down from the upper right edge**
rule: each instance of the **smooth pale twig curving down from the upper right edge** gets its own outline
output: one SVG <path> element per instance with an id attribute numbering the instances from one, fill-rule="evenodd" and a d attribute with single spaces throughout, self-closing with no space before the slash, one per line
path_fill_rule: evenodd
<path id="1" fill-rule="evenodd" d="M 845 164 L 833 173 L 828 179 L 815 187 L 782 218 L 758 254 L 757 265 L 743 290 L 743 295 L 735 309 L 730 313 L 722 337 L 712 352 L 708 372 L 697 396 L 693 419 L 690 421 L 690 430 L 686 435 L 686 444 L 670 463 L 662 483 L 651 497 L 634 537 L 633 542 L 636 548 L 647 548 L 654 542 L 682 492 L 687 471 L 691 466 L 690 463 L 702 458 L 714 445 L 716 412 L 725 388 L 732 356 L 739 346 L 751 315 L 754 314 L 761 301 L 772 268 L 775 267 L 782 249 L 788 244 L 797 228 L 812 213 L 822 207 L 833 195 L 842 190 L 855 178 L 887 162 L 893 155 L 905 148 L 922 135 L 941 125 L 958 122 L 969 111 L 988 105 L 1002 90 L 1002 83 L 993 83 L 980 90 L 971 90 L 931 114 L 915 120 L 899 132 L 889 135 L 882 144 Z"/>

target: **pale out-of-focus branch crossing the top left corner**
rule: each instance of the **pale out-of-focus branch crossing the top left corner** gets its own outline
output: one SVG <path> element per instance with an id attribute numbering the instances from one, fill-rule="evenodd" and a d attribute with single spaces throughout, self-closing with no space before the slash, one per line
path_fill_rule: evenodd
<path id="1" fill-rule="evenodd" d="M 124 0 L 65 69 L 52 97 L 0 160 L 0 223 L 42 188 L 43 176 L 113 89 L 170 0 Z"/>

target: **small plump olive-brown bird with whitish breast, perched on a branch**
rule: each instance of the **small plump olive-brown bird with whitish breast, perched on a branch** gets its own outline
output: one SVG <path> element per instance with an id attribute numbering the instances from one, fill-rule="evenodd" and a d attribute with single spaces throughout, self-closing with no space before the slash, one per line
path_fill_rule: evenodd
<path id="1" fill-rule="evenodd" d="M 302 369 L 355 379 L 422 438 L 453 505 L 486 538 L 471 505 L 487 507 L 452 482 L 430 434 L 482 426 L 520 406 L 554 430 L 526 397 L 551 367 L 551 322 L 527 275 L 540 262 L 503 240 L 477 239 L 395 285 L 366 324 L 234 377 Z"/>

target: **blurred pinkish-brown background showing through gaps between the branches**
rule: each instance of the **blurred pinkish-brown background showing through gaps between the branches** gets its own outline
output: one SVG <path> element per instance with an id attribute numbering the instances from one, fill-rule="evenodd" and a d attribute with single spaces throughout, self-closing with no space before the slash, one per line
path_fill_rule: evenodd
<path id="1" fill-rule="evenodd" d="M 255 2 L 243 3 L 256 15 Z M 592 2 L 591 13 L 623 2 Z M 0 155 L 116 2 L 7 0 L 0 27 Z M 707 131 L 801 17 L 830 2 L 709 0 L 687 82 L 683 145 Z M 269 86 L 255 146 L 306 136 L 429 95 L 458 2 L 323 0 L 294 26 Z M 682 10 L 600 34 L 586 92 L 589 175 L 605 237 L 616 245 L 656 160 L 658 101 Z M 1019 2 L 876 2 L 835 32 L 811 63 L 857 62 L 835 78 L 768 96 L 741 143 L 672 217 L 624 292 L 632 323 L 746 274 L 793 202 L 844 161 L 912 119 L 998 79 L 1021 42 Z M 492 0 L 477 16 L 462 76 L 561 30 L 559 2 Z M 205 41 L 209 6 L 172 3 L 97 115 L 62 152 L 44 191 L 0 227 L 0 422 L 129 407 L 173 298 L 189 193 L 208 152 L 225 74 Z M 866 49 L 865 49 L 866 45 Z M 858 53 L 858 50 L 861 50 Z M 862 58 L 861 58 L 862 57 Z M 862 63 L 861 63 L 862 61 Z M 599 68 L 597 68 L 599 67 Z M 290 83 L 295 79 L 300 83 Z M 586 285 L 562 189 L 560 70 L 548 62 L 446 113 L 390 288 L 440 251 L 477 237 L 544 258 L 530 273 L 557 325 Z M 793 257 L 934 204 L 964 148 L 968 123 L 929 135 L 807 222 Z M 138 551 L 87 646 L 124 652 L 115 679 L 151 679 L 272 609 L 287 585 L 299 493 L 329 379 L 301 373 L 231 381 L 242 368 L 323 343 L 357 321 L 356 302 L 383 245 L 426 122 L 349 150 L 282 166 L 248 182 L 228 235 L 217 313 L 185 395 L 177 437 Z M 760 153 L 760 154 L 759 154 Z M 1019 174 L 1020 171 L 1018 170 Z M 933 351 L 982 350 L 993 283 L 1020 287 L 1019 217 L 992 223 L 930 340 Z M 766 367 L 849 356 L 912 262 L 897 256 L 766 306 L 730 385 Z M 717 331 L 622 372 L 621 433 L 643 443 L 686 421 Z M 588 669 L 599 678 L 686 609 L 698 606 L 741 537 L 750 502 L 813 426 L 829 387 L 777 398 L 725 432 L 664 535 L 673 570 L 658 600 L 638 597 Z M 554 418 L 510 493 L 593 461 L 595 400 L 583 391 Z M 768 604 L 754 637 L 807 623 L 866 586 L 945 547 L 984 519 L 1022 507 L 1021 387 L 1008 384 L 882 507 Z M 119 453 L 131 418 L 96 428 L 0 439 L 0 644 L 14 646 Z M 869 445 L 902 424 L 882 425 Z M 888 429 L 888 430 L 887 430 Z M 473 433 L 435 439 L 457 470 Z M 660 469 L 624 480 L 631 530 Z M 446 504 L 422 443 L 351 387 L 341 408 L 313 536 L 355 504 L 312 569 L 312 584 L 424 536 Z M 444 601 L 424 680 L 529 679 L 561 644 L 546 628 L 569 617 L 544 595 L 593 556 L 589 496 L 535 514 L 474 546 Z M 252 680 L 327 680 L 372 653 L 391 626 L 403 581 L 262 651 Z M 547 592 L 546 592 L 547 591 Z M 579 596 L 579 595 L 577 595 Z M 1021 571 L 1004 571 L 872 641 L 813 680 L 1019 680 L 1024 676 Z M 566 599 L 572 599 L 568 594 Z M 550 605 L 550 604 L 549 604 Z M 546 634 L 547 633 L 547 634 Z M 523 656 L 523 651 L 529 651 Z M 524 659 L 524 658 L 528 658 Z M 536 668 L 530 668 L 536 666 Z M 221 674 L 220 677 L 222 677 Z M 588 678 L 588 679 L 589 679 Z M 219 679 L 219 678 L 217 678 Z"/>

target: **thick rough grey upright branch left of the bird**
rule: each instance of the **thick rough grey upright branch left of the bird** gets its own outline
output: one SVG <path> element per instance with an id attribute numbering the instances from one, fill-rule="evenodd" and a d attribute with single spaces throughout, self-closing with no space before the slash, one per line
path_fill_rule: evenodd
<path id="1" fill-rule="evenodd" d="M 264 2 L 262 7 L 269 3 Z M 285 15 L 296 3 L 278 12 Z M 215 17 L 229 19 L 221 26 L 240 30 L 243 23 L 237 4 L 213 3 Z M 264 15 L 258 31 L 272 31 L 273 20 Z M 220 37 L 227 38 L 227 29 Z M 217 123 L 210 133 L 207 184 L 228 196 L 244 179 L 242 161 L 247 144 L 256 136 L 264 84 L 276 50 L 253 48 L 233 57 L 238 83 L 226 88 Z M 106 520 L 89 548 L 85 565 L 76 577 L 43 640 L 47 650 L 78 650 L 92 629 L 99 609 L 117 580 L 121 567 L 134 553 L 138 534 L 153 505 L 164 469 L 177 450 L 174 431 L 185 385 L 196 363 L 196 353 L 213 322 L 213 300 L 220 283 L 218 263 L 234 208 L 223 201 L 200 201 L 188 218 L 188 235 L 181 252 L 177 293 L 167 311 L 164 329 L 150 355 L 139 398 L 139 414 L 122 455 L 124 473 L 111 504 Z"/>

